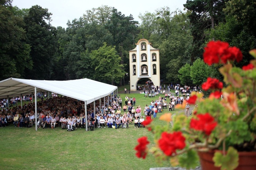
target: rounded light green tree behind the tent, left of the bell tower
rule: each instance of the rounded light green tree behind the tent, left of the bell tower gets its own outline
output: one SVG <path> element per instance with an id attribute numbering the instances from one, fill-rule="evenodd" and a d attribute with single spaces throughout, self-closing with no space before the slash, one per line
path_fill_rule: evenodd
<path id="1" fill-rule="evenodd" d="M 124 65 L 120 64 L 121 57 L 117 54 L 115 47 L 103 44 L 98 50 L 90 54 L 92 68 L 95 68 L 93 78 L 104 83 L 119 83 L 124 77 Z"/>

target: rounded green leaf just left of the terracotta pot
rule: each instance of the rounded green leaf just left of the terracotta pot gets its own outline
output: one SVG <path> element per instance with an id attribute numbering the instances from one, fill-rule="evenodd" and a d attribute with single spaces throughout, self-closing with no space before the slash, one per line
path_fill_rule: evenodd
<path id="1" fill-rule="evenodd" d="M 194 150 L 188 150 L 186 154 L 180 155 L 179 164 L 187 169 L 196 168 L 198 162 L 198 155 Z"/>

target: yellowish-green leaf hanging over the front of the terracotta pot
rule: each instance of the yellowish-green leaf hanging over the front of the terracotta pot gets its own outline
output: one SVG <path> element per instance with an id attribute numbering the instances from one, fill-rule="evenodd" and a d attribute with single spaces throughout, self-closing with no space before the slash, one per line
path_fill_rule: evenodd
<path id="1" fill-rule="evenodd" d="M 238 160 L 238 152 L 233 147 L 228 148 L 226 155 L 222 155 L 221 152 L 215 152 L 213 157 L 214 166 L 221 167 L 222 170 L 235 169 L 238 166 Z"/>

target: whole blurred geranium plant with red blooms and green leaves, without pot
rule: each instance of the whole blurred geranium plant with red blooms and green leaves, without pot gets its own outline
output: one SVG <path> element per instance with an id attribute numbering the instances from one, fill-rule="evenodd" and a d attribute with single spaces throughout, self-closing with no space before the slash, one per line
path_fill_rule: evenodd
<path id="1" fill-rule="evenodd" d="M 256 58 L 256 49 L 249 53 Z M 242 61 L 242 57 L 240 49 L 225 42 L 210 41 L 203 59 L 210 66 L 222 65 L 219 72 L 225 87 L 223 82 L 208 78 L 202 89 L 209 90 L 210 96 L 203 99 L 202 93 L 192 92 L 187 101 L 197 106 L 192 116 L 168 113 L 159 118 L 167 121 L 165 126 L 146 125 L 154 133 L 156 146 L 148 149 L 147 138 L 138 139 L 146 141 L 141 142 L 142 150 L 137 148 L 137 157 L 145 158 L 150 151 L 159 161 L 170 160 L 172 166 L 195 168 L 197 152 L 217 149 L 222 152 L 215 152 L 214 166 L 235 169 L 238 151 L 256 151 L 256 60 L 238 68 L 234 62 Z M 185 105 L 183 102 L 179 107 Z"/>

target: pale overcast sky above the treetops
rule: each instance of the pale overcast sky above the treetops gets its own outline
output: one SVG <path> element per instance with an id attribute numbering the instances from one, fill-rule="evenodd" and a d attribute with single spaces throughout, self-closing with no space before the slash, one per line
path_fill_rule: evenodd
<path id="1" fill-rule="evenodd" d="M 18 8 L 30 8 L 33 5 L 40 5 L 48 8 L 48 12 L 52 15 L 52 26 L 61 26 L 66 28 L 68 20 L 80 18 L 87 10 L 97 8 L 101 5 L 115 7 L 118 12 L 129 16 L 132 14 L 134 20 L 139 21 L 138 15 L 144 14 L 146 11 L 155 12 L 158 8 L 168 6 L 170 11 L 176 8 L 183 11 L 183 4 L 186 0 L 13 0 L 12 5 Z"/>

